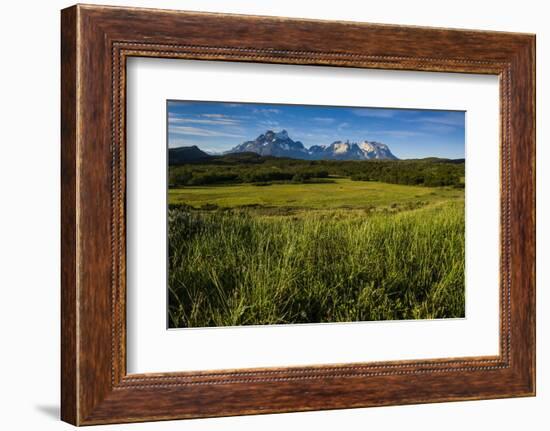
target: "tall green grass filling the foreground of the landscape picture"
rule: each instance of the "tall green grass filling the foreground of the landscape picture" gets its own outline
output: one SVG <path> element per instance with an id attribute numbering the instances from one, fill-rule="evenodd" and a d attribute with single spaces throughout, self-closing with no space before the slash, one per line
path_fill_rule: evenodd
<path id="1" fill-rule="evenodd" d="M 169 211 L 171 327 L 464 316 L 464 204 L 397 214 Z"/>

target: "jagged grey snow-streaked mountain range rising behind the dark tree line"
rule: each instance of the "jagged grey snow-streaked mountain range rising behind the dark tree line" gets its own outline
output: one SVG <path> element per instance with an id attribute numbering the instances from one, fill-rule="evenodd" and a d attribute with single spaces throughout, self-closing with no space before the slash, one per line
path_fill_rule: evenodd
<path id="1" fill-rule="evenodd" d="M 262 156 L 291 157 L 306 160 L 397 160 L 389 147 L 380 142 L 335 141 L 330 145 L 312 145 L 309 149 L 293 141 L 286 130 L 268 130 L 254 141 L 246 141 L 227 153 L 253 152 Z"/>

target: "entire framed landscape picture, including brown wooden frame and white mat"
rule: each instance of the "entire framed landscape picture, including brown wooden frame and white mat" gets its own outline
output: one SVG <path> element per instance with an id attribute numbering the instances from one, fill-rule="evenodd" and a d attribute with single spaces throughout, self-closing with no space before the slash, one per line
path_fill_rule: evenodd
<path id="1" fill-rule="evenodd" d="M 535 394 L 535 37 L 62 11 L 62 419 Z"/>

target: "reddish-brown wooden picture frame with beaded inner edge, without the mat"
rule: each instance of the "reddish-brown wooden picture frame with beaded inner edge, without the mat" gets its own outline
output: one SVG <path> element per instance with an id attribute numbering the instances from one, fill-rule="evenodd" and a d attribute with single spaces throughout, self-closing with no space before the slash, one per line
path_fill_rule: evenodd
<path id="1" fill-rule="evenodd" d="M 64 421 L 91 425 L 535 394 L 534 35 L 83 5 L 64 9 L 61 17 Z M 130 56 L 498 75 L 500 354 L 128 375 Z"/>

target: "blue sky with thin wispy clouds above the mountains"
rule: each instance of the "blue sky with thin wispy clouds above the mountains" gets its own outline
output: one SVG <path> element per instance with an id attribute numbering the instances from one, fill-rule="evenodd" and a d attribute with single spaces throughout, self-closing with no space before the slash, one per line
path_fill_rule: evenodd
<path id="1" fill-rule="evenodd" d="M 171 148 L 223 152 L 285 129 L 306 147 L 367 140 L 387 144 L 400 159 L 464 157 L 463 111 L 172 100 L 167 111 Z"/>

